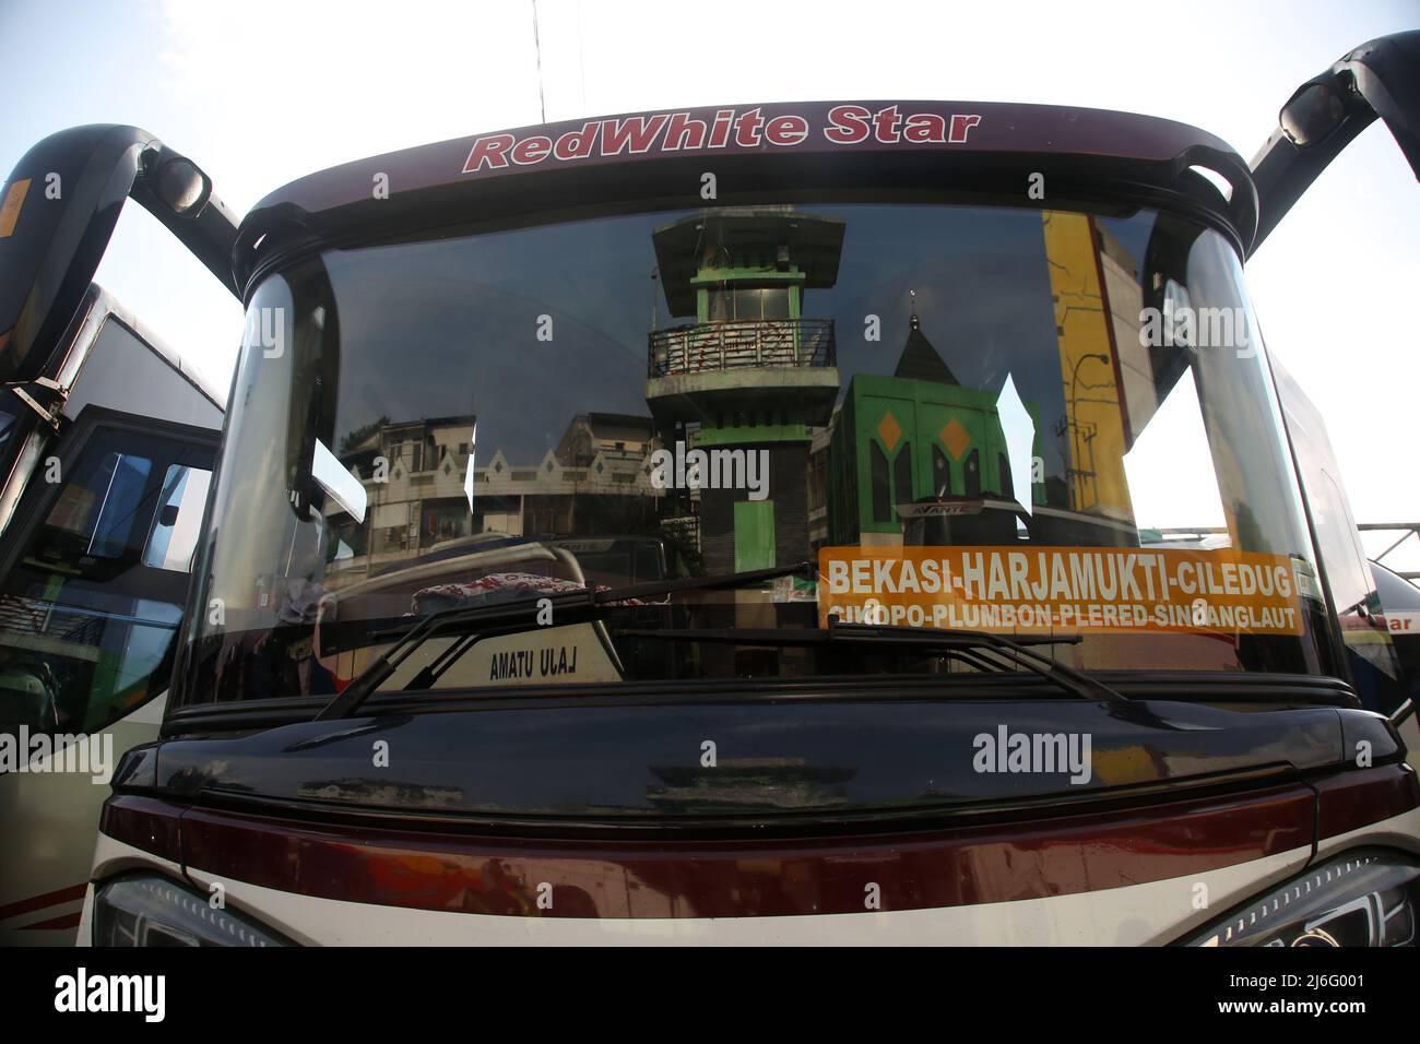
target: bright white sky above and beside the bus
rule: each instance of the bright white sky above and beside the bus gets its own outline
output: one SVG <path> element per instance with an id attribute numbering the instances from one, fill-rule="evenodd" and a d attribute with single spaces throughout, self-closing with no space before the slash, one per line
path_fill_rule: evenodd
<path id="1" fill-rule="evenodd" d="M 1049 102 L 1179 119 L 1250 159 L 1298 84 L 1420 27 L 1420 0 L 540 0 L 538 14 L 550 121 L 829 98 Z M 237 213 L 335 163 L 540 119 L 530 0 L 3 0 L 0 40 L 0 170 L 53 131 L 136 124 L 202 165 Z M 1362 521 L 1420 520 L 1417 244 L 1420 186 L 1377 124 L 1250 264 L 1268 348 L 1326 418 Z M 146 212 L 125 210 L 98 278 L 227 386 L 240 307 Z M 1397 561 L 1420 568 L 1420 544 Z"/>

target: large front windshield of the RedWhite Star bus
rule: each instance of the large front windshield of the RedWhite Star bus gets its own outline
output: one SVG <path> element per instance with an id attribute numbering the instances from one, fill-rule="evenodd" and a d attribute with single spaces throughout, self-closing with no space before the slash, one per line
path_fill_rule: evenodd
<path id="1" fill-rule="evenodd" d="M 974 669 L 775 641 L 832 622 L 1332 669 L 1238 260 L 1160 213 L 731 206 L 329 250 L 250 303 L 219 474 L 186 702 L 334 693 L 442 608 L 797 561 L 816 580 L 444 636 L 383 687 Z"/>

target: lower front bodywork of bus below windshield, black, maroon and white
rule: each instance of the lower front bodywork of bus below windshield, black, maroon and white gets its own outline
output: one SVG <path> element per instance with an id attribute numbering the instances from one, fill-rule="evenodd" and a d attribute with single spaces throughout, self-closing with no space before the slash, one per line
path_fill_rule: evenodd
<path id="1" fill-rule="evenodd" d="M 94 881 L 220 885 L 229 909 L 317 945 L 1170 943 L 1240 905 L 1339 888 L 1379 851 L 1420 855 L 1420 787 L 1393 732 L 1343 706 L 1269 706 L 1298 685 L 1257 685 L 1241 710 L 1164 692 L 1126 713 L 1015 705 L 1012 730 L 1093 732 L 1083 793 L 951 778 L 1003 717 L 970 699 L 757 706 L 727 690 L 693 720 L 564 706 L 176 740 L 116 781 Z M 1318 696 L 1345 703 L 1340 686 Z M 528 714 L 557 741 L 521 739 Z M 704 736 L 720 766 L 686 767 Z M 381 739 L 406 766 L 398 793 L 355 774 Z M 1343 757 L 1360 740 L 1369 768 Z M 738 770 L 736 751 L 753 754 Z M 496 821 L 476 807 L 513 791 L 524 807 Z M 795 814 L 815 791 L 839 800 Z M 1241 939 L 1258 916 L 1278 910 L 1220 932 Z"/>

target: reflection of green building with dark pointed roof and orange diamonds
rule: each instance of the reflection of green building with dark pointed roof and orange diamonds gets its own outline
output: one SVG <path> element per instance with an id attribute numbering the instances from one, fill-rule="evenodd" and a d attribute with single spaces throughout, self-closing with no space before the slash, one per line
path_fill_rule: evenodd
<path id="1" fill-rule="evenodd" d="M 957 381 L 916 311 L 893 375 L 849 382 L 829 457 L 835 544 L 900 544 L 917 517 L 1017 497 L 997 393 Z M 1031 503 L 1030 490 L 1021 497 Z M 1014 538 L 1014 516 L 995 521 Z"/>

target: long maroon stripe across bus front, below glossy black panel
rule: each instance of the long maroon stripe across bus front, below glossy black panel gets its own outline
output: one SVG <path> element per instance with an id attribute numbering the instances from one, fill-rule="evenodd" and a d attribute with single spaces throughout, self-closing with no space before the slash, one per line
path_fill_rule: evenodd
<path id="1" fill-rule="evenodd" d="M 1312 844 L 1314 793 L 933 834 L 774 842 L 513 841 L 192 810 L 192 869 L 298 895 L 462 913 L 728 918 L 1038 899 L 1203 874 Z M 551 886 L 552 906 L 540 906 Z M 1189 895 L 1179 902 L 1187 903 Z M 545 901 L 544 901 L 545 903 Z"/>

